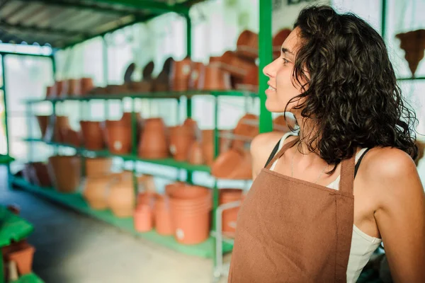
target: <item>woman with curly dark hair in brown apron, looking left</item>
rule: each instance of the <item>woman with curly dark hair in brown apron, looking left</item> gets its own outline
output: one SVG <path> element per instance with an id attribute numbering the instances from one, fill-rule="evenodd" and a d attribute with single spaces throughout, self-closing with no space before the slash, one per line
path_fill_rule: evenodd
<path id="1" fill-rule="evenodd" d="M 263 72 L 266 108 L 292 112 L 298 129 L 251 144 L 229 282 L 356 282 L 381 241 L 395 282 L 425 282 L 415 118 L 380 35 L 305 8 Z"/>

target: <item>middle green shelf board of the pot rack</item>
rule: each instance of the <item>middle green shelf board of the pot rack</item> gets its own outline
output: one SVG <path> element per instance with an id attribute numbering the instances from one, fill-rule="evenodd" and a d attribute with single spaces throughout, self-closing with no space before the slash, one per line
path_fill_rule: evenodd
<path id="1" fill-rule="evenodd" d="M 181 161 L 175 161 L 173 158 L 165 158 L 165 159 L 147 159 L 147 158 L 141 158 L 140 156 L 134 156 L 134 155 L 120 155 L 120 154 L 111 154 L 107 150 L 102 151 L 89 151 L 87 149 L 73 146 L 71 144 L 60 144 L 57 142 L 51 142 L 51 141 L 44 141 L 43 139 L 23 139 L 23 141 L 35 141 L 35 142 L 43 142 L 45 144 L 50 144 L 54 146 L 66 146 L 73 149 L 76 149 L 79 154 L 83 154 L 84 156 L 98 156 L 98 157 L 108 157 L 108 156 L 115 156 L 123 158 L 125 161 L 142 161 L 147 163 L 154 163 L 158 165 L 164 165 L 164 166 L 170 166 L 174 168 L 179 169 L 185 169 L 187 171 L 198 171 L 198 172 L 207 172 L 210 173 L 211 168 L 206 165 L 193 165 L 191 163 L 187 162 L 181 162 Z"/>

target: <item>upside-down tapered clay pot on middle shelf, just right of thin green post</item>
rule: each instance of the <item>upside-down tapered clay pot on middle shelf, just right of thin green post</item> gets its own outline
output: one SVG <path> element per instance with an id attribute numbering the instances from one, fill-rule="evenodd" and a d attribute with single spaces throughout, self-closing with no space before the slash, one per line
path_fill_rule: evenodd
<path id="1" fill-rule="evenodd" d="M 138 154 L 142 158 L 166 158 L 169 156 L 169 142 L 162 118 L 149 118 L 140 137 Z"/>

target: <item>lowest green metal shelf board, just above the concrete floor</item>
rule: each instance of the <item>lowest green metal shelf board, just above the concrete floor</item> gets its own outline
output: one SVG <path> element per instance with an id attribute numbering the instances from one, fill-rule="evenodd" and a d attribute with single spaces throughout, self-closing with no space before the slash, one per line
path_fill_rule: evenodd
<path id="1" fill-rule="evenodd" d="M 23 190 L 42 195 L 43 197 L 62 204 L 65 207 L 69 207 L 71 209 L 76 210 L 77 212 L 87 214 L 89 216 L 94 217 L 95 219 L 105 221 L 106 223 L 118 227 L 123 231 L 126 231 L 141 238 L 146 238 L 149 241 L 179 251 L 180 253 L 185 253 L 187 255 L 196 255 L 202 258 L 212 258 L 213 256 L 213 245 L 215 241 L 213 237 L 210 237 L 207 241 L 199 243 L 197 245 L 182 245 L 178 243 L 173 236 L 162 236 L 155 231 L 149 231 L 146 233 L 140 233 L 135 231 L 132 217 L 118 218 L 114 216 L 109 210 L 100 211 L 91 209 L 91 207 L 89 207 L 89 205 L 84 201 L 83 197 L 81 196 L 81 193 L 79 192 L 72 194 L 64 194 L 61 192 L 57 192 L 52 188 L 42 188 L 37 187 L 35 185 L 31 185 L 27 183 L 26 180 L 24 180 L 23 178 L 16 177 L 13 178 L 12 183 L 18 185 L 18 187 L 21 187 Z M 232 248 L 233 245 L 229 243 L 223 243 L 223 253 L 231 251 Z"/>

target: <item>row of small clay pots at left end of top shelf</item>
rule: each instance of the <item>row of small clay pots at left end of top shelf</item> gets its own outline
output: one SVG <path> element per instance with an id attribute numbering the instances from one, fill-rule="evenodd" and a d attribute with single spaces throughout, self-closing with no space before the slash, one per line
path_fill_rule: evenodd
<path id="1" fill-rule="evenodd" d="M 46 98 L 66 98 L 84 96 L 94 88 L 91 78 L 67 79 L 55 81 L 53 86 L 47 86 Z"/>

